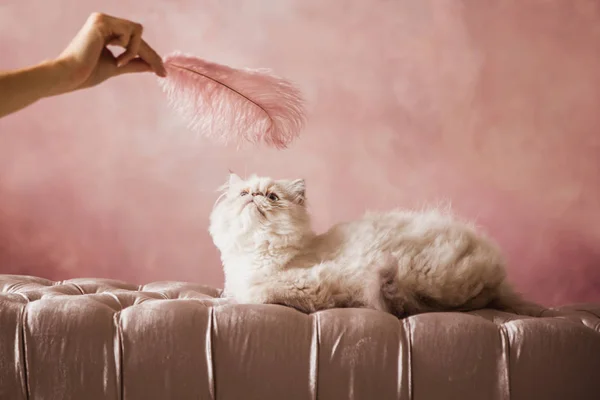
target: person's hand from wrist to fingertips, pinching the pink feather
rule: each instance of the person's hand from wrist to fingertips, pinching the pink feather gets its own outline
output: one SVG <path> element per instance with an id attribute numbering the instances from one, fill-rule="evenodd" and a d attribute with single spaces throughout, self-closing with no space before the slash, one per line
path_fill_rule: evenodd
<path id="1" fill-rule="evenodd" d="M 143 39 L 140 24 L 93 13 L 55 60 L 64 72 L 60 92 L 95 86 L 113 76 L 153 71 L 166 76 L 161 57 Z M 125 49 L 118 57 L 109 45 Z"/>

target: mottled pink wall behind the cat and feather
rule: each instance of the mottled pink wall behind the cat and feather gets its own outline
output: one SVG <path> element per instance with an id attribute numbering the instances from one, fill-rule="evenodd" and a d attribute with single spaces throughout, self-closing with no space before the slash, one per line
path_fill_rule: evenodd
<path id="1" fill-rule="evenodd" d="M 310 102 L 284 152 L 189 134 L 149 74 L 0 120 L 0 271 L 220 286 L 207 234 L 232 168 L 305 177 L 315 227 L 449 201 L 546 304 L 600 300 L 600 2 L 12 0 L 0 68 L 53 57 L 92 11 L 160 52 L 271 67 Z"/>

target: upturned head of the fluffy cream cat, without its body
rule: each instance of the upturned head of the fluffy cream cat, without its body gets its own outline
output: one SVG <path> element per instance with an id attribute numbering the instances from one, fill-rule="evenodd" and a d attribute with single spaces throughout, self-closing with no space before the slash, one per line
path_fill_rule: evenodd
<path id="1" fill-rule="evenodd" d="M 267 244 L 300 244 L 311 232 L 303 179 L 273 180 L 234 173 L 221 187 L 210 215 L 210 235 L 221 253 L 254 250 Z"/>

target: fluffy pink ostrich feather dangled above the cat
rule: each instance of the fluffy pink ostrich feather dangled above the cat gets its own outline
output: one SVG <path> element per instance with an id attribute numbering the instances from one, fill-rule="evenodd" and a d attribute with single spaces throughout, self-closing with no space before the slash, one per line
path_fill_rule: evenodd
<path id="1" fill-rule="evenodd" d="M 160 79 L 171 107 L 200 135 L 222 143 L 287 147 L 306 121 L 300 91 L 268 70 L 235 69 L 174 53 Z"/>

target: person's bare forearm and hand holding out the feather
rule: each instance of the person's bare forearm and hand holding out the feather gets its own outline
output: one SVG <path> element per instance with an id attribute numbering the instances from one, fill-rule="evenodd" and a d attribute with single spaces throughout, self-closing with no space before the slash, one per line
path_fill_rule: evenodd
<path id="1" fill-rule="evenodd" d="M 165 76 L 160 56 L 142 39 L 142 26 L 93 13 L 67 48 L 55 59 L 14 71 L 0 71 L 0 118 L 36 101 L 95 86 L 133 72 Z M 106 47 L 121 46 L 114 57 Z"/>

